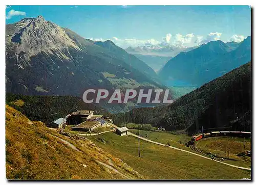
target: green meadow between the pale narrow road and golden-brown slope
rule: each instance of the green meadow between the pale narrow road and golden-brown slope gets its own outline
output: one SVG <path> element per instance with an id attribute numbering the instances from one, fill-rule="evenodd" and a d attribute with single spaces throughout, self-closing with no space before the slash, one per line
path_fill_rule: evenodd
<path id="1" fill-rule="evenodd" d="M 250 171 L 233 168 L 200 156 L 140 141 L 138 138 L 104 133 L 87 137 L 97 146 L 121 158 L 146 179 L 242 179 Z M 104 142 L 102 142 L 104 140 Z"/>

